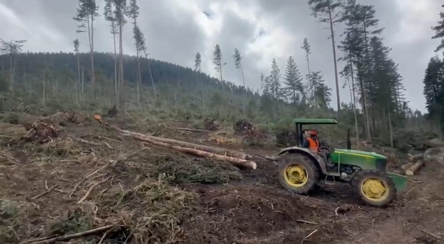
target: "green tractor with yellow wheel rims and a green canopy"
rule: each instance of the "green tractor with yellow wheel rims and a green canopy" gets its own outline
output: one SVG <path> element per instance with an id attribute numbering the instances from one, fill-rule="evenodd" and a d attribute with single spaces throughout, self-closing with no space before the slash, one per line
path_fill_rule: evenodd
<path id="1" fill-rule="evenodd" d="M 350 130 L 348 149 L 321 147 L 327 152 L 332 166 L 308 148 L 302 148 L 304 141 L 302 125 L 337 124 L 334 119 L 294 119 L 298 145 L 280 151 L 278 177 L 285 189 L 308 195 L 320 180 L 348 182 L 364 203 L 374 207 L 385 207 L 407 186 L 407 177 L 386 172 L 387 159 L 377 153 L 351 150 Z"/>

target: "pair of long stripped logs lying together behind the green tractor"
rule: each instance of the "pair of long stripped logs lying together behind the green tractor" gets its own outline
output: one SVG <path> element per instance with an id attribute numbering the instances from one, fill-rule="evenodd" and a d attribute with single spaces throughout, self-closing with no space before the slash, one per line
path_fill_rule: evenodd
<path id="1" fill-rule="evenodd" d="M 154 137 L 147 134 L 142 134 L 138 132 L 131 132 L 129 130 L 121 130 L 113 125 L 109 125 L 105 123 L 101 116 L 95 115 L 94 119 L 106 125 L 113 130 L 117 130 L 122 134 L 133 137 L 139 141 L 144 141 L 146 143 L 151 143 L 156 146 L 161 146 L 164 148 L 169 148 L 173 150 L 177 150 L 182 153 L 189 153 L 191 155 L 196 155 L 198 157 L 209 157 L 211 159 L 216 159 L 224 162 L 229 162 L 234 166 L 243 167 L 243 168 L 253 168 L 256 169 L 257 165 L 255 162 L 250 161 L 253 158 L 251 155 L 247 155 L 246 153 L 237 152 L 234 150 L 226 150 L 224 148 L 216 148 L 212 146 L 205 146 L 196 143 L 189 143 L 187 141 L 178 141 L 174 139 L 167 139 L 163 137 Z"/>

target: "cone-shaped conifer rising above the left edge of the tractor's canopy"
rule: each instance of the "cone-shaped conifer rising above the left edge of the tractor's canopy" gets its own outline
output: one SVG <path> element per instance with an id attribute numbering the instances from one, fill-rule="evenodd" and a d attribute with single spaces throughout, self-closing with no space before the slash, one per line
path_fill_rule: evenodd
<path id="1" fill-rule="evenodd" d="M 294 58 L 290 56 L 287 60 L 287 69 L 285 71 L 284 79 L 284 94 L 289 96 L 289 99 L 293 105 L 300 104 L 305 94 L 302 86 L 302 76 L 300 75 L 298 66 L 294 61 Z"/>

